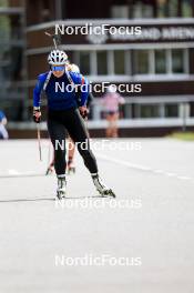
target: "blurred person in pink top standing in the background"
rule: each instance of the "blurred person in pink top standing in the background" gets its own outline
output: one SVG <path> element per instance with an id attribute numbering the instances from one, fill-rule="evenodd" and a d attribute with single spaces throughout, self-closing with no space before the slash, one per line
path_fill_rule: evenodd
<path id="1" fill-rule="evenodd" d="M 116 92 L 115 85 L 110 85 L 108 92 L 102 97 L 102 105 L 105 108 L 108 121 L 106 138 L 118 138 L 119 105 L 124 103 L 125 100 Z"/>

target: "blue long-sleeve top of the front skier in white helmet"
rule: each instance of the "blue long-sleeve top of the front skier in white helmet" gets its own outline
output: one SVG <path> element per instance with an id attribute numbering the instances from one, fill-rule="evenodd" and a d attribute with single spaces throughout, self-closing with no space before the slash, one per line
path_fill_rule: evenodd
<path id="1" fill-rule="evenodd" d="M 38 82 L 33 90 L 33 107 L 40 107 L 41 92 L 43 91 L 44 83 L 47 83 L 47 77 L 49 72 L 42 73 L 38 77 Z M 89 95 L 89 82 L 82 74 L 69 71 L 70 78 L 73 84 L 84 84 L 82 91 L 80 91 L 79 107 L 85 105 Z M 68 85 L 68 88 L 67 88 Z M 55 78 L 51 74 L 45 88 L 45 95 L 48 99 L 49 110 L 67 110 L 78 107 L 78 93 L 73 90 L 67 73 L 61 78 Z M 70 89 L 69 91 L 67 89 Z"/>

